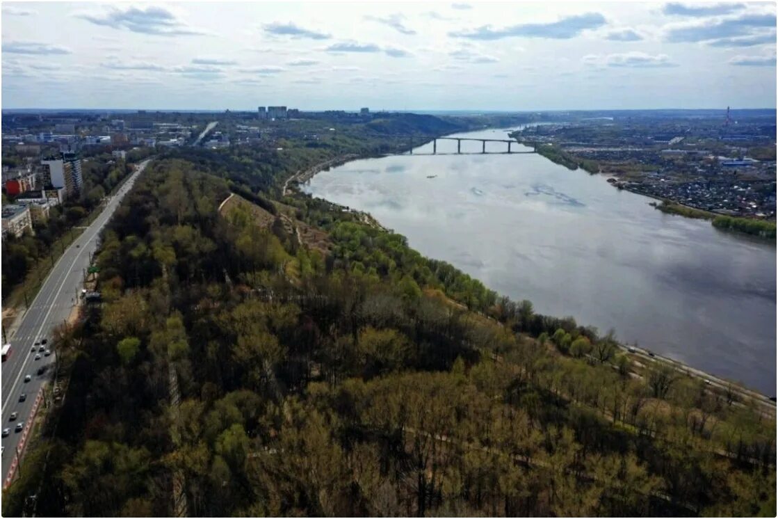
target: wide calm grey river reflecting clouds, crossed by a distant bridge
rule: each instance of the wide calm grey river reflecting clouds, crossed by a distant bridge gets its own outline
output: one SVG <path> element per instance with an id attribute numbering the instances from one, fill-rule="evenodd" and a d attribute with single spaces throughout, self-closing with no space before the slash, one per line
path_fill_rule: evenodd
<path id="1" fill-rule="evenodd" d="M 438 141 L 437 152 L 456 146 Z M 461 146 L 478 154 L 422 156 L 429 143 L 321 172 L 303 189 L 370 212 L 422 254 L 539 313 L 614 328 L 622 341 L 775 395 L 774 245 L 664 214 L 607 177 L 536 154 Z"/>

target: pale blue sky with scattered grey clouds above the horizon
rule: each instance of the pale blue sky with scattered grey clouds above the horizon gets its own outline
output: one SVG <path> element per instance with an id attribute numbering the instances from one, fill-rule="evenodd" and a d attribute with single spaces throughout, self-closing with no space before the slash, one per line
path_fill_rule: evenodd
<path id="1" fill-rule="evenodd" d="M 2 108 L 773 108 L 773 2 L 2 2 Z"/>

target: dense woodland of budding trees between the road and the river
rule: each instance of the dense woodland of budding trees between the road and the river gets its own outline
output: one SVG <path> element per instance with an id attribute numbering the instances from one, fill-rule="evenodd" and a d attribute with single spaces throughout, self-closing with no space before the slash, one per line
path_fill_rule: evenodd
<path id="1" fill-rule="evenodd" d="M 5 515 L 776 514 L 774 419 L 733 392 L 327 202 L 275 205 L 327 254 L 280 211 L 220 213 L 238 179 L 183 155 L 104 233 L 104 302 L 57 331 L 66 395 Z"/>

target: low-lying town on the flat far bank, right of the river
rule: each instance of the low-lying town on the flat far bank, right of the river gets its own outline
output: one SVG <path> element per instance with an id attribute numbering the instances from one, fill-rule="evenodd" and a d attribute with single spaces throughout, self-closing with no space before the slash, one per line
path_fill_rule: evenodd
<path id="1" fill-rule="evenodd" d="M 776 121 L 769 110 L 619 112 L 513 134 L 617 188 L 727 216 L 774 220 Z"/>

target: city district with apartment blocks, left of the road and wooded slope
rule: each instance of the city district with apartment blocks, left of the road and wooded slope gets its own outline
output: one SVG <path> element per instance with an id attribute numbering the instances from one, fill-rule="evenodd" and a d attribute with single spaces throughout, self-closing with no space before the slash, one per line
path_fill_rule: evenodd
<path id="1" fill-rule="evenodd" d="M 230 110 L 220 114 L 233 124 L 206 124 L 212 114 L 171 114 L 137 110 L 134 113 L 66 111 L 40 114 L 4 114 L 2 121 L 2 237 L 21 237 L 44 223 L 51 208 L 86 195 L 82 162 L 103 156 L 111 165 L 128 152 L 145 149 L 202 146 L 209 149 L 252 145 L 272 136 L 297 136 L 274 125 L 300 117 L 300 110 L 258 107 L 253 113 Z M 325 112 L 323 117 L 370 117 L 363 108 L 356 113 Z M 316 116 L 314 116 L 315 118 Z M 246 121 L 245 124 L 241 124 Z M 223 121 L 224 123 L 224 121 Z M 287 128 L 288 129 L 288 128 Z M 324 128 L 326 130 L 328 128 Z M 303 135 L 304 136 L 304 135 Z M 311 139 L 317 139 L 314 134 Z"/>

